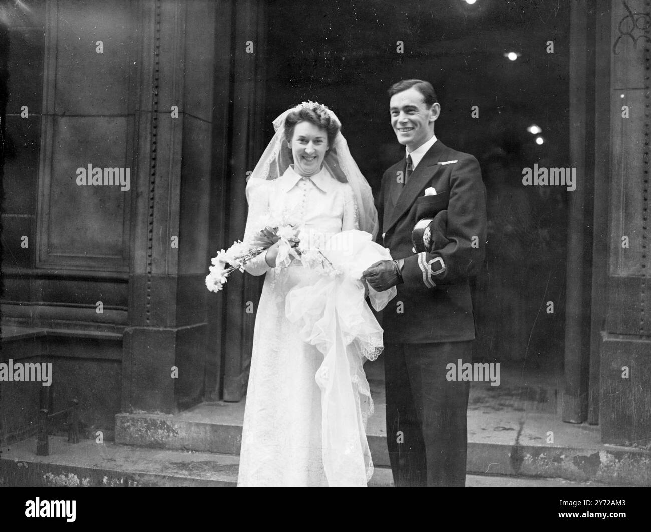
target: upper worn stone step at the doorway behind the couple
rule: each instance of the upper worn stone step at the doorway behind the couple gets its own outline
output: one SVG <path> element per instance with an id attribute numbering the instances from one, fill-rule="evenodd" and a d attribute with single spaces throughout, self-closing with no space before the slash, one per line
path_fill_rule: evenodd
<path id="1" fill-rule="evenodd" d="M 238 455 L 244 402 L 206 402 L 176 415 L 118 414 L 115 441 L 150 449 Z M 380 410 L 380 412 L 378 412 Z M 369 421 L 377 468 L 389 467 L 383 405 Z M 547 443 L 553 432 L 555 443 Z M 468 412 L 467 472 L 651 485 L 651 453 L 600 443 L 598 427 L 568 425 L 549 413 Z"/>

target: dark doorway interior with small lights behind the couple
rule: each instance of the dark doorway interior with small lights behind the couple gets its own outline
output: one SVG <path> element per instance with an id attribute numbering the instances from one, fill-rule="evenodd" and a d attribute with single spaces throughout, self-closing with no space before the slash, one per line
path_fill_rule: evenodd
<path id="1" fill-rule="evenodd" d="M 396 52 L 398 40 L 404 53 Z M 568 49 L 569 6 L 561 0 L 270 3 L 266 139 L 288 107 L 326 104 L 377 189 L 404 156 L 387 88 L 418 77 L 434 85 L 441 104 L 437 138 L 480 161 L 490 221 L 477 288 L 480 359 L 556 371 L 562 364 L 567 192 L 524 187 L 521 177 L 534 163 L 569 166 Z M 510 61 L 507 51 L 521 55 Z M 527 132 L 532 124 L 544 144 Z"/>

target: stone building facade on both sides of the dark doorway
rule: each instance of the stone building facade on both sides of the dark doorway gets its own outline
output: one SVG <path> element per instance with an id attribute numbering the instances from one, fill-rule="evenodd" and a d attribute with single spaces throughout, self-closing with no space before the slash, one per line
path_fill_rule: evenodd
<path id="1" fill-rule="evenodd" d="M 217 295 L 203 279 L 210 257 L 242 237 L 247 173 L 279 102 L 294 98 L 270 90 L 278 78 L 269 70 L 292 68 L 296 57 L 267 46 L 270 27 L 296 21 L 288 5 L 3 7 L 1 357 L 53 363 L 47 400 L 55 409 L 79 400 L 89 433 L 110 433 L 118 412 L 175 413 L 245 394 L 255 320 L 247 309 L 260 279 L 233 275 Z M 574 2 L 570 37 L 556 43 L 569 57 L 568 165 L 579 175 L 557 301 L 563 417 L 599 424 L 606 443 L 651 438 L 650 9 L 643 0 Z M 374 71 L 381 54 L 372 46 L 350 53 L 373 67 L 368 77 L 395 81 Z M 335 72 L 349 72 L 344 55 Z M 414 64 L 430 68 L 418 54 L 409 68 L 395 61 L 402 77 Z M 303 81 L 310 94 L 311 78 Z M 346 105 L 345 91 L 336 96 L 346 79 L 330 83 Z M 90 184 L 79 184 L 86 174 Z M 105 174 L 124 176 L 122 186 L 105 184 Z M 0 388 L 3 441 L 33 432 L 42 389 Z"/>

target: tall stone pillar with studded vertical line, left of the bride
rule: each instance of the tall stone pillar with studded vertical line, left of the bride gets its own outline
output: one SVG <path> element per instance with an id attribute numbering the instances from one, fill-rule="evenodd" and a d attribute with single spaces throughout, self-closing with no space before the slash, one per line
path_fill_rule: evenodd
<path id="1" fill-rule="evenodd" d="M 123 411 L 172 413 L 204 391 L 216 8 L 210 0 L 137 3 Z"/>

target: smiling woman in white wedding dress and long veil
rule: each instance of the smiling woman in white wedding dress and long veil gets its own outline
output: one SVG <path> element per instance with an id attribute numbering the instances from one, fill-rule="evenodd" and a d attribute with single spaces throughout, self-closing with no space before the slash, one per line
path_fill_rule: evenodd
<path id="1" fill-rule="evenodd" d="M 335 114 L 304 102 L 273 124 L 275 135 L 247 184 L 245 241 L 255 240 L 264 219 L 282 218 L 299 229 L 301 244 L 330 250 L 323 257 L 333 271 L 309 268 L 305 255 L 287 257 L 280 242 L 245 266 L 266 278 L 238 486 L 366 486 L 372 400 L 362 364 L 380 353 L 382 331 L 360 277 L 388 251 L 372 242 L 378 219 L 371 189 Z M 367 289 L 376 308 L 393 297 Z"/>

